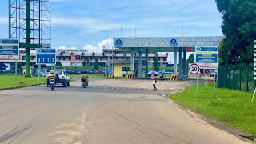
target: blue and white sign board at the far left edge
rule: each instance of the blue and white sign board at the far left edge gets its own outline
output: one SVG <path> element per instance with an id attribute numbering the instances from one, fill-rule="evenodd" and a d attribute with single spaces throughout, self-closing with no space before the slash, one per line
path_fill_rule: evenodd
<path id="1" fill-rule="evenodd" d="M 0 59 L 19 59 L 18 39 L 0 39 Z"/>

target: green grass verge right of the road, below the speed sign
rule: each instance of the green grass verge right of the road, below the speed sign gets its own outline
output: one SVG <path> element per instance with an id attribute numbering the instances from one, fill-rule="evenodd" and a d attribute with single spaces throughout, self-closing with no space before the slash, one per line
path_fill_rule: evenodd
<path id="1" fill-rule="evenodd" d="M 195 96 L 193 86 L 190 86 L 184 92 L 170 95 L 170 98 L 209 118 L 255 134 L 256 99 L 250 102 L 252 94 L 218 88 L 214 92 L 212 84 L 210 86 L 201 85 Z"/>

